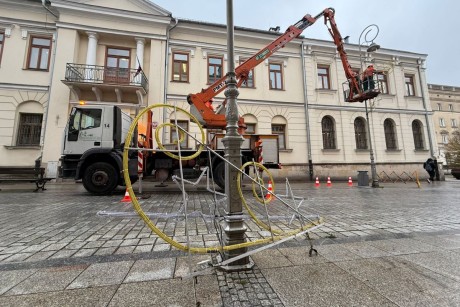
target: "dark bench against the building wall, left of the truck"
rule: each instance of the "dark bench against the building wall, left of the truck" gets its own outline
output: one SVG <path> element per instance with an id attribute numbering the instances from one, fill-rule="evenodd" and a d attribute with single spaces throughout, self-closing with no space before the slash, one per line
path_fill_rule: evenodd
<path id="1" fill-rule="evenodd" d="M 39 189 L 42 191 L 45 189 L 45 184 L 54 179 L 46 178 L 45 168 L 37 166 L 0 166 L 0 182 L 35 182 L 37 188 L 34 192 Z"/>

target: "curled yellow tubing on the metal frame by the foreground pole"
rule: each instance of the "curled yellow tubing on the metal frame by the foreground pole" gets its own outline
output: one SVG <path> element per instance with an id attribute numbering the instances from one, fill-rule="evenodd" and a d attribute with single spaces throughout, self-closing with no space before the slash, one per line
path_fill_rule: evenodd
<path id="1" fill-rule="evenodd" d="M 203 136 L 203 142 L 202 142 L 202 144 L 200 145 L 198 151 L 195 154 L 190 155 L 188 157 L 181 157 L 182 160 L 193 159 L 193 158 L 197 157 L 201 153 L 201 151 L 204 148 L 204 145 L 203 145 L 204 144 L 204 132 L 203 132 L 202 126 L 198 123 L 198 120 L 196 120 L 196 118 L 192 114 L 187 112 L 186 110 L 178 108 L 178 107 L 174 107 L 174 106 L 171 106 L 171 105 L 156 104 L 156 105 L 148 106 L 147 108 L 142 110 L 136 116 L 136 118 L 134 119 L 133 123 L 131 124 L 131 126 L 129 128 L 129 131 L 128 131 L 128 134 L 126 136 L 125 147 L 124 147 L 124 150 L 123 150 L 123 176 L 124 176 L 124 179 L 125 179 L 125 182 L 126 182 L 126 191 L 129 193 L 129 196 L 131 197 L 131 202 L 133 204 L 134 210 L 137 212 L 137 214 L 140 216 L 140 218 L 145 222 L 145 224 L 147 226 L 149 226 L 149 228 L 155 234 L 157 234 L 164 241 L 166 241 L 167 243 L 169 243 L 170 245 L 174 246 L 175 248 L 177 248 L 179 250 L 189 251 L 191 253 L 201 253 L 201 254 L 203 254 L 203 253 L 212 253 L 212 252 L 217 252 L 217 251 L 230 251 L 230 250 L 246 248 L 246 247 L 250 247 L 250 246 L 254 246 L 254 245 L 259 245 L 259 244 L 264 244 L 264 243 L 269 243 L 269 242 L 275 242 L 275 241 L 281 240 L 281 239 L 283 239 L 283 238 L 285 238 L 287 236 L 292 236 L 292 235 L 298 234 L 301 231 L 307 230 L 308 228 L 311 228 L 311 227 L 314 227 L 314 226 L 317 226 L 317 225 L 320 225 L 320 224 L 323 223 L 322 218 L 319 218 L 318 221 L 310 222 L 307 225 L 304 225 L 303 227 L 301 227 L 299 229 L 295 229 L 295 230 L 290 231 L 290 232 L 272 231 L 270 229 L 270 227 L 268 227 L 262 221 L 257 219 L 256 215 L 250 210 L 249 206 L 247 205 L 247 202 L 244 199 L 243 192 L 241 190 L 241 184 L 240 184 L 241 183 L 241 174 L 240 174 L 240 176 L 238 176 L 238 179 L 237 179 L 237 184 L 238 184 L 238 187 L 239 187 L 238 188 L 239 189 L 239 194 L 240 194 L 240 197 L 241 197 L 241 199 L 243 201 L 244 206 L 246 207 L 246 209 L 248 210 L 249 214 L 256 221 L 257 224 L 261 225 L 261 227 L 263 227 L 264 229 L 267 229 L 269 231 L 272 231 L 274 234 L 277 234 L 276 236 L 265 238 L 265 239 L 259 239 L 259 240 L 252 241 L 252 242 L 245 242 L 245 243 L 232 244 L 232 245 L 226 245 L 226 246 L 220 246 L 219 245 L 219 246 L 213 246 L 213 247 L 190 247 L 190 248 L 187 247 L 186 245 L 183 245 L 183 244 L 173 240 L 170 236 L 168 236 L 167 234 L 162 232 L 150 220 L 150 218 L 142 210 L 142 208 L 141 208 L 141 206 L 140 206 L 140 204 L 139 204 L 139 202 L 138 202 L 138 200 L 136 198 L 136 195 L 134 194 L 133 187 L 131 185 L 131 180 L 129 178 L 129 171 L 128 171 L 128 160 L 129 160 L 128 155 L 129 155 L 129 147 L 130 147 L 129 145 L 131 143 L 131 139 L 132 139 L 134 130 L 136 129 L 137 123 L 138 123 L 139 119 L 146 112 L 148 112 L 151 109 L 155 109 L 155 108 L 170 108 L 170 109 L 173 109 L 175 111 L 181 111 L 181 112 L 185 113 L 186 115 L 188 115 L 192 119 L 192 121 L 194 121 L 195 123 L 198 124 L 198 126 L 200 128 L 200 131 L 202 133 L 202 136 Z M 163 145 L 160 145 L 161 142 L 159 142 L 158 133 L 155 133 L 155 138 L 157 139 L 158 146 L 160 148 L 164 149 Z M 177 155 L 174 155 L 174 154 L 172 154 L 170 152 L 165 152 L 165 153 L 171 158 L 179 159 L 179 156 L 177 156 Z M 248 162 L 248 163 L 253 163 L 253 162 Z M 248 166 L 248 163 L 244 164 L 241 169 L 243 170 L 246 166 Z M 270 179 L 272 180 L 271 174 L 268 172 L 268 170 L 263 165 L 257 163 L 257 164 L 254 164 L 254 166 L 257 166 L 257 167 L 265 170 L 269 174 Z M 272 182 L 273 182 L 273 180 L 272 180 Z"/>

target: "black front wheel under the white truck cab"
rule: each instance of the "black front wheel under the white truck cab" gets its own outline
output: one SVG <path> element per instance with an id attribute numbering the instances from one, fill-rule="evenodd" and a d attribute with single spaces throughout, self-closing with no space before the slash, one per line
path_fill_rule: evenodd
<path id="1" fill-rule="evenodd" d="M 97 162 L 88 166 L 83 175 L 83 186 L 88 192 L 96 195 L 110 194 L 118 185 L 118 174 L 115 168 L 105 162 Z"/>

